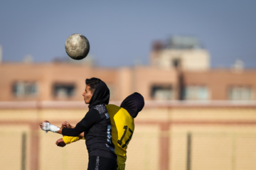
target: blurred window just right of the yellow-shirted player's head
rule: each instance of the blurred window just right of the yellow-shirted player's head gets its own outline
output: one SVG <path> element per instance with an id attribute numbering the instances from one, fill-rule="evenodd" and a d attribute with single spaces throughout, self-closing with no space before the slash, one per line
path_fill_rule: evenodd
<path id="1" fill-rule="evenodd" d="M 152 86 L 151 98 L 156 99 L 156 100 L 173 99 L 173 90 L 170 85 Z"/>

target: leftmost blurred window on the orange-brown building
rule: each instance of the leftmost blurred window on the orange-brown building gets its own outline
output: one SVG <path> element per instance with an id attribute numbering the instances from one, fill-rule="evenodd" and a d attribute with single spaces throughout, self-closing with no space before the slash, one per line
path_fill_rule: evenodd
<path id="1" fill-rule="evenodd" d="M 13 84 L 12 93 L 16 97 L 35 97 L 38 86 L 35 81 L 17 81 Z"/>

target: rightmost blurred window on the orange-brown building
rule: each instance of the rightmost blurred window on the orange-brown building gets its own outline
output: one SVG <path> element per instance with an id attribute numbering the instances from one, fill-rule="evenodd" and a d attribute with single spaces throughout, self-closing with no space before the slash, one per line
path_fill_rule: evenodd
<path id="1" fill-rule="evenodd" d="M 250 86 L 231 86 L 228 89 L 229 100 L 253 100 L 253 89 Z"/>

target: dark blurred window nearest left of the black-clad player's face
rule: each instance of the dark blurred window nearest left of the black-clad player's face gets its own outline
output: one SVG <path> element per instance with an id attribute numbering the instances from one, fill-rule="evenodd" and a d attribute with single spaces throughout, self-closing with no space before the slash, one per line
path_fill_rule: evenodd
<path id="1" fill-rule="evenodd" d="M 56 98 L 70 98 L 75 95 L 74 84 L 53 84 L 53 96 Z"/>

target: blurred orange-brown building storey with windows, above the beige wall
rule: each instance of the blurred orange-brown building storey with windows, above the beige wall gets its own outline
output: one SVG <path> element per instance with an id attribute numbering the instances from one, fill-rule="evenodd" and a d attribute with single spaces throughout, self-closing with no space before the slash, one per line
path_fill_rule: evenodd
<path id="1" fill-rule="evenodd" d="M 98 68 L 68 63 L 0 64 L 0 101 L 80 101 L 85 79 L 98 77 L 121 101 L 134 91 L 146 100 L 255 101 L 256 69 L 181 71 L 150 66 Z"/>

